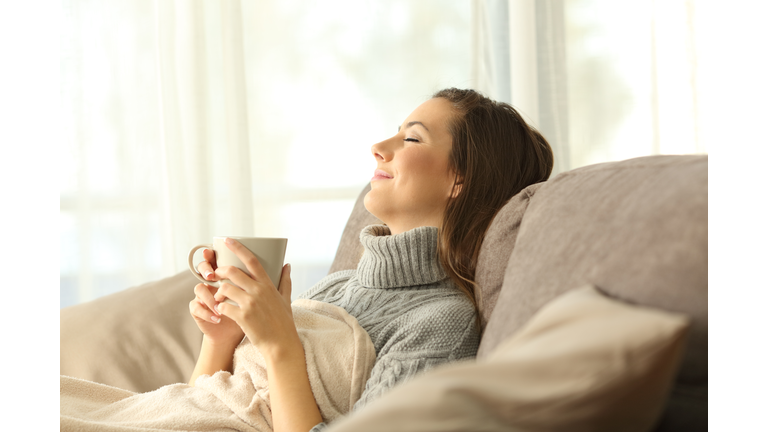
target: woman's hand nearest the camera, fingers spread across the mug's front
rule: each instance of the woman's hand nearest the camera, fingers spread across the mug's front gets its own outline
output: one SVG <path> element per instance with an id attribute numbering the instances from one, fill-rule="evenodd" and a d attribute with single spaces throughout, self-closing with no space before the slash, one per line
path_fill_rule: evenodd
<path id="1" fill-rule="evenodd" d="M 250 250 L 233 239 L 227 239 L 225 244 L 253 276 L 233 266 L 215 270 L 218 279 L 229 279 L 236 285 L 222 283 L 213 296 L 215 301 L 220 302 L 218 309 L 222 318 L 234 320 L 265 359 L 299 353 L 303 358 L 303 348 L 291 311 L 290 264 L 283 266 L 277 289 Z M 226 298 L 232 299 L 239 306 L 221 303 Z"/>

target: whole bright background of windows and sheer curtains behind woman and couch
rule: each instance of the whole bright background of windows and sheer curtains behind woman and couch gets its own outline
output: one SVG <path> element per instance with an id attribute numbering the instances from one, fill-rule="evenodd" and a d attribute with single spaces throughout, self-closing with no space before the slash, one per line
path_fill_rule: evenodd
<path id="1" fill-rule="evenodd" d="M 60 307 L 287 237 L 325 276 L 370 146 L 445 87 L 511 103 L 555 172 L 707 153 L 720 12 L 694 0 L 63 0 Z M 197 260 L 202 259 L 199 257 Z M 196 261 L 197 261 L 196 260 Z M 191 293 L 192 287 L 190 287 Z"/>

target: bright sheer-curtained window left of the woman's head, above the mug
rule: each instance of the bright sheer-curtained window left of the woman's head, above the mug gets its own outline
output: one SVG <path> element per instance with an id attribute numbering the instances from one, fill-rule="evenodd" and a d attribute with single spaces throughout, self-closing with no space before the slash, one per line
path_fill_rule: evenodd
<path id="1" fill-rule="evenodd" d="M 62 8 L 62 307 L 184 271 L 214 235 L 288 237 L 294 293 L 309 288 L 370 146 L 470 86 L 467 0 Z"/>

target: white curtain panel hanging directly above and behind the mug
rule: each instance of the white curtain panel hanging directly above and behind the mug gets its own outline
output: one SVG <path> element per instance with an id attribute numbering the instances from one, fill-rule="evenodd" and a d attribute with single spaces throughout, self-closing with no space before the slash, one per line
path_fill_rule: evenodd
<path id="1" fill-rule="evenodd" d="M 251 143 L 240 1 L 155 6 L 162 256 L 172 274 L 186 268 L 190 239 L 254 235 Z M 219 52 L 210 55 L 210 47 Z M 212 67 L 209 57 L 221 61 Z M 218 113 L 211 112 L 211 92 L 223 95 Z"/>

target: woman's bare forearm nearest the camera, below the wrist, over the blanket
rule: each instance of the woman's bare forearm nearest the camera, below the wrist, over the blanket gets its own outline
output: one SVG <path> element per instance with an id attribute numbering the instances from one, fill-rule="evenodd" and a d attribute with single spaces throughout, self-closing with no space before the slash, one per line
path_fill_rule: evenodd
<path id="1" fill-rule="evenodd" d="M 265 356 L 275 432 L 307 432 L 323 421 L 307 375 L 301 343 Z"/>

